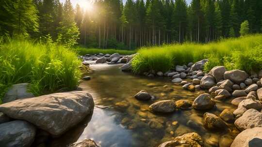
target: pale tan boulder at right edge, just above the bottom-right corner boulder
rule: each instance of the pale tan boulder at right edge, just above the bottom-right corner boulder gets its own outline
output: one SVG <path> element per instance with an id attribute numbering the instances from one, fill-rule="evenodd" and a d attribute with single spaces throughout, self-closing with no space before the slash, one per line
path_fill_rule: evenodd
<path id="1" fill-rule="evenodd" d="M 240 131 L 262 127 L 262 113 L 256 109 L 248 109 L 240 118 L 236 119 L 235 126 Z"/>

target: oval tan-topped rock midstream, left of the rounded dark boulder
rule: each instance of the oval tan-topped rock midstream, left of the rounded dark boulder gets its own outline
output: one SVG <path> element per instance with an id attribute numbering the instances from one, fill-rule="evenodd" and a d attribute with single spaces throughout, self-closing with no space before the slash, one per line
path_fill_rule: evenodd
<path id="1" fill-rule="evenodd" d="M 149 109 L 153 112 L 169 113 L 176 109 L 176 104 L 170 100 L 159 101 L 149 106 Z"/>

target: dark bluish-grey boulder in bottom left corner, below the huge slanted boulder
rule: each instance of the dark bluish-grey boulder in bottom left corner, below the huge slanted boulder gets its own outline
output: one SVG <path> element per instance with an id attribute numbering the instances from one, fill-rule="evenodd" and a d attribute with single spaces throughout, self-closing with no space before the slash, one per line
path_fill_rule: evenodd
<path id="1" fill-rule="evenodd" d="M 0 147 L 30 147 L 36 129 L 27 121 L 15 120 L 0 124 Z"/>

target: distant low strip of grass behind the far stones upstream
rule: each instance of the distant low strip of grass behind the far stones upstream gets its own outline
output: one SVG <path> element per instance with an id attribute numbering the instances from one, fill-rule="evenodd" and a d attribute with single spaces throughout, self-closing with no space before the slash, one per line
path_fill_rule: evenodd
<path id="1" fill-rule="evenodd" d="M 76 47 L 73 50 L 75 50 L 79 55 L 85 55 L 85 54 L 98 54 L 98 53 L 103 53 L 103 54 L 114 54 L 114 53 L 119 53 L 121 55 L 131 55 L 135 54 L 135 50 L 117 50 L 117 49 L 98 49 L 98 48 L 84 48 L 84 47 Z"/>

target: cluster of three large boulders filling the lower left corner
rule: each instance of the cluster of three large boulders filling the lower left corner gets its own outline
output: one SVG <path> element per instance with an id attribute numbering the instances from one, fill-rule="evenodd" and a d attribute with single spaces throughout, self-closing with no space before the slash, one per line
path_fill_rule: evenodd
<path id="1" fill-rule="evenodd" d="M 1 147 L 43 146 L 50 137 L 64 134 L 93 112 L 93 98 L 85 91 L 34 97 L 27 92 L 28 87 L 27 83 L 16 84 L 3 98 L 0 105 Z"/>

